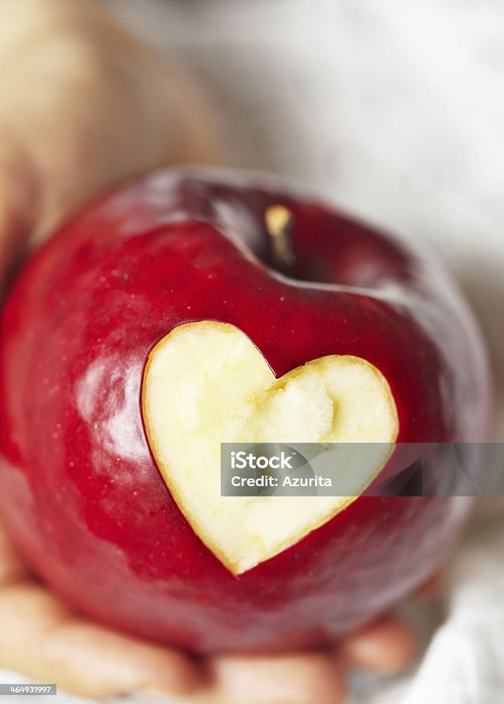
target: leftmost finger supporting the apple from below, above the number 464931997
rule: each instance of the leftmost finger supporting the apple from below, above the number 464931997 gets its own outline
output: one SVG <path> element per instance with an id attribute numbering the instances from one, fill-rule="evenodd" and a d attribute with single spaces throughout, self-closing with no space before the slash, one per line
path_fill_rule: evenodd
<path id="1" fill-rule="evenodd" d="M 182 695 L 199 686 L 189 658 L 76 617 L 34 582 L 0 589 L 0 623 L 0 666 L 81 696 Z"/>

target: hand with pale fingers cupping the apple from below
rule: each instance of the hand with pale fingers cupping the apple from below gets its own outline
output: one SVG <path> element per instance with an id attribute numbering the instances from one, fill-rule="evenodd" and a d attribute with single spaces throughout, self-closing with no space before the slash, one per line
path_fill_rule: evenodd
<path id="1" fill-rule="evenodd" d="M 0 667 L 92 698 L 153 691 L 194 704 L 343 704 L 346 671 L 393 674 L 416 652 L 384 617 L 332 649 L 196 660 L 73 612 L 32 577 L 0 527 Z"/>

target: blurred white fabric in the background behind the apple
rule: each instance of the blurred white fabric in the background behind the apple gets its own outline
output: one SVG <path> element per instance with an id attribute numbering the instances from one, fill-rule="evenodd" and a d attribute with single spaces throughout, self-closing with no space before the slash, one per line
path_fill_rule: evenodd
<path id="1" fill-rule="evenodd" d="M 234 163 L 311 184 L 439 251 L 484 327 L 502 408 L 502 3 L 110 1 L 193 65 L 220 106 Z M 360 681 L 355 703 L 504 702 L 503 505 L 480 510 L 455 553 L 442 622 L 422 615 L 436 627 L 418 670 Z"/>

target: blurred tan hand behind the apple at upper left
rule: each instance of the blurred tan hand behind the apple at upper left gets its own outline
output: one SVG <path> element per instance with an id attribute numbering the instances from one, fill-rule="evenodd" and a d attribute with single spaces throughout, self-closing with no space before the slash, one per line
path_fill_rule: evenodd
<path id="1" fill-rule="evenodd" d="M 199 84 L 112 17 L 91 21 L 91 6 L 72 7 L 76 17 L 63 13 L 52 30 L 41 23 L 37 41 L 30 34 L 0 62 L 0 277 L 27 234 L 38 244 L 118 180 L 173 163 L 222 163 Z"/>

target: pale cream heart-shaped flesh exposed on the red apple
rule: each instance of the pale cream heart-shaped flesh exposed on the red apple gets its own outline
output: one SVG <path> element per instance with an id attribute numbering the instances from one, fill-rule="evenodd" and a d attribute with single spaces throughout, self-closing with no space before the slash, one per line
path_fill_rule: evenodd
<path id="1" fill-rule="evenodd" d="M 241 574 L 346 508 L 377 477 L 398 435 L 396 403 L 363 358 L 325 356 L 276 379 L 237 327 L 180 325 L 153 348 L 142 411 L 172 496 L 203 543 Z M 341 496 L 221 496 L 220 444 L 367 443 L 341 467 Z"/>

